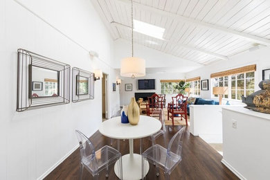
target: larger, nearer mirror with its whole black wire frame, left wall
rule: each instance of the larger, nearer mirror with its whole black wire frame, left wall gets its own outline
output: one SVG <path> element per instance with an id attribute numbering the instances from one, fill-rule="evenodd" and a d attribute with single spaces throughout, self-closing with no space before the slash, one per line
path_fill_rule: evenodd
<path id="1" fill-rule="evenodd" d="M 69 64 L 18 49 L 17 111 L 70 102 Z"/>

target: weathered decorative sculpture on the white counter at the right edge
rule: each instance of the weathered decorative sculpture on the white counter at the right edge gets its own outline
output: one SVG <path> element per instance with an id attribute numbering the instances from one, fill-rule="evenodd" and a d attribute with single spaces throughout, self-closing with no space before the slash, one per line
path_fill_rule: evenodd
<path id="1" fill-rule="evenodd" d="M 262 90 L 256 91 L 246 98 L 242 96 L 242 102 L 247 105 L 245 107 L 247 109 L 270 114 L 270 80 L 262 80 L 259 87 Z"/>

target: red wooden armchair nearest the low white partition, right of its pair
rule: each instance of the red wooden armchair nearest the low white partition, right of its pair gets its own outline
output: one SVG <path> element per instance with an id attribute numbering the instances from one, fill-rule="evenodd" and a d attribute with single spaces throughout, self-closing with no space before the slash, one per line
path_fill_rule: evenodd
<path id="1" fill-rule="evenodd" d="M 188 125 L 187 99 L 188 97 L 184 97 L 183 94 L 179 93 L 177 96 L 172 97 L 172 102 L 168 103 L 168 120 L 171 114 L 172 125 L 174 125 L 175 115 L 180 115 L 181 120 L 185 118 L 186 125 Z"/>

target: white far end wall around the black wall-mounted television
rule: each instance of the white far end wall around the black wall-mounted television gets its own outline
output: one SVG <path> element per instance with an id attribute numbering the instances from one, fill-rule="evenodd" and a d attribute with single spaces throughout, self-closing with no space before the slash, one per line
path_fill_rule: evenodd
<path id="1" fill-rule="evenodd" d="M 183 73 L 165 73 L 165 74 L 147 74 L 141 78 L 126 78 L 121 77 L 122 83 L 120 84 L 120 105 L 129 105 L 130 99 L 135 96 L 135 93 L 155 92 L 161 93 L 160 80 L 182 80 L 184 79 Z M 156 89 L 154 90 L 138 90 L 137 82 L 140 79 L 155 79 Z M 125 84 L 132 84 L 132 91 L 125 91 Z M 166 94 L 166 105 L 172 101 L 172 94 Z"/>

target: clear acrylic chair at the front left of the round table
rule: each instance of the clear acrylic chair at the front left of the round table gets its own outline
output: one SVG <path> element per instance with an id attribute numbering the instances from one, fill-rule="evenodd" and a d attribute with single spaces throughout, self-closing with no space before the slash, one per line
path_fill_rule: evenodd
<path id="1" fill-rule="evenodd" d="M 87 136 L 78 130 L 75 130 L 75 132 L 80 143 L 80 179 L 82 179 L 84 168 L 92 174 L 94 179 L 98 179 L 99 172 L 104 169 L 106 169 L 106 177 L 109 177 L 109 165 L 115 162 L 117 163 L 120 179 L 123 179 L 122 156 L 118 150 L 105 145 L 100 150 L 95 151 Z"/>

